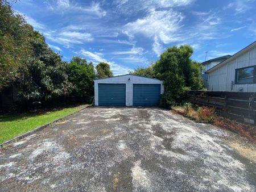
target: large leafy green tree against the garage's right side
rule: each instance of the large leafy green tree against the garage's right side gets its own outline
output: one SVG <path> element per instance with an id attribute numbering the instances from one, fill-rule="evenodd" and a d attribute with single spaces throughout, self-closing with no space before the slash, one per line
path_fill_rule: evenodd
<path id="1" fill-rule="evenodd" d="M 171 106 L 182 102 L 185 90 L 203 87 L 200 64 L 191 60 L 192 53 L 193 49 L 189 45 L 170 47 L 153 66 L 156 77 L 164 81 L 162 105 Z"/>

